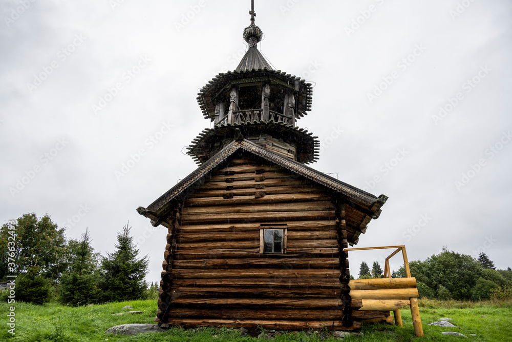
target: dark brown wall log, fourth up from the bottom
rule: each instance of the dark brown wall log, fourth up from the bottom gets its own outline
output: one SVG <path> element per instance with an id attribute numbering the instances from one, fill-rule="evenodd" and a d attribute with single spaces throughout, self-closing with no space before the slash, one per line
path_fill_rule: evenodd
<path id="1" fill-rule="evenodd" d="M 253 289 L 253 290 L 252 290 Z M 338 288 L 317 289 L 317 288 L 249 288 L 249 291 L 241 291 L 240 287 L 174 287 L 173 291 L 177 297 L 249 297 L 249 298 L 336 298 L 340 295 Z"/>

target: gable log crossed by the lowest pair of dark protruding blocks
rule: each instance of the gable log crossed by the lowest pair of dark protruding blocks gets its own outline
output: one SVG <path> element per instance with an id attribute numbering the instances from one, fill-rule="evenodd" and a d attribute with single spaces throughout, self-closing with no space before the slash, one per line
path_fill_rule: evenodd
<path id="1" fill-rule="evenodd" d="M 288 185 L 288 186 L 271 186 L 269 184 L 265 184 L 264 189 L 257 190 L 254 187 L 251 188 L 242 188 L 242 189 L 232 189 L 229 190 L 235 197 L 237 196 L 254 196 L 255 191 L 265 191 L 267 195 L 280 195 L 280 194 L 298 194 L 298 193 L 324 193 L 324 188 L 321 188 L 317 185 Z M 226 193 L 226 189 L 218 189 L 218 190 L 197 190 L 191 195 L 188 195 L 188 200 L 194 198 L 205 198 L 206 197 L 222 197 Z M 188 203 L 188 202 L 187 202 Z"/>

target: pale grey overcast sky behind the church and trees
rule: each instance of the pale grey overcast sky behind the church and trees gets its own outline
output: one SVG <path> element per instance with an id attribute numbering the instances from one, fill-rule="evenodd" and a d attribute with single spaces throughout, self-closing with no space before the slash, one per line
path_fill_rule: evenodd
<path id="1" fill-rule="evenodd" d="M 48 213 L 105 254 L 130 221 L 159 280 L 167 230 L 136 209 L 196 168 L 198 88 L 240 62 L 250 1 L 1 1 L 0 223 Z M 311 166 L 389 196 L 357 247 L 512 266 L 512 3 L 255 3 L 262 53 L 315 85 Z"/>

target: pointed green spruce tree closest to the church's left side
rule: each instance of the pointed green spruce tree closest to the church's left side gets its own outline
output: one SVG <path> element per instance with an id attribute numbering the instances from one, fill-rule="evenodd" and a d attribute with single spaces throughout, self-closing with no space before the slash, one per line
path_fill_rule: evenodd
<path id="1" fill-rule="evenodd" d="M 126 225 L 122 233 L 117 233 L 117 250 L 106 253 L 106 257 L 101 260 L 99 288 L 104 300 L 123 301 L 146 297 L 147 284 L 144 277 L 149 260 L 147 255 L 137 258 L 139 250 L 130 236 L 131 229 Z"/>

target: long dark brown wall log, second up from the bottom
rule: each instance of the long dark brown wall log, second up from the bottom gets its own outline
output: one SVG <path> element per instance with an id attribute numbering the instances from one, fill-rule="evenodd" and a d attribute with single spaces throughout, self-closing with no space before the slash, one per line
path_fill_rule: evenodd
<path id="1" fill-rule="evenodd" d="M 217 319 L 307 319 L 307 320 L 340 320 L 343 317 L 341 309 L 190 309 L 173 307 L 167 317 L 173 318 L 217 318 Z"/>

